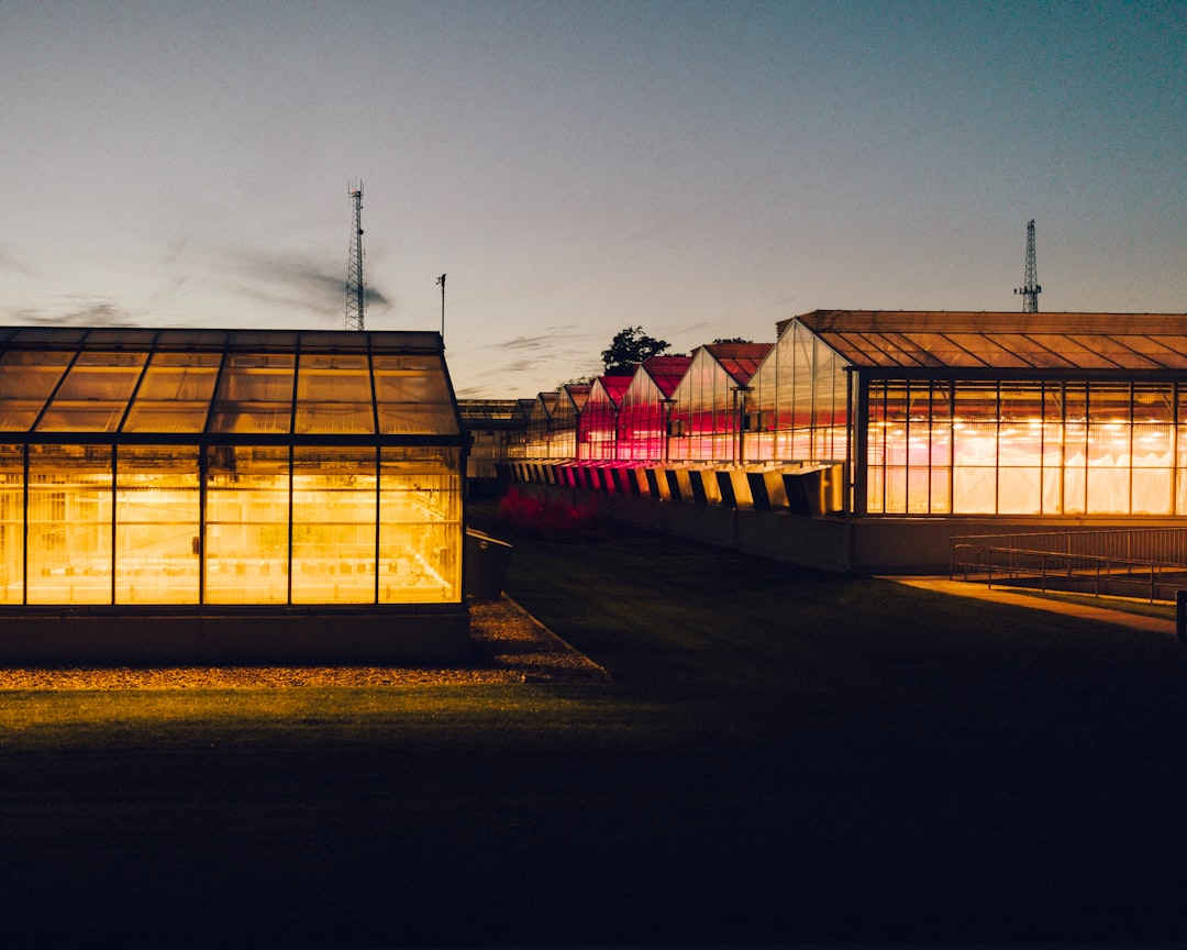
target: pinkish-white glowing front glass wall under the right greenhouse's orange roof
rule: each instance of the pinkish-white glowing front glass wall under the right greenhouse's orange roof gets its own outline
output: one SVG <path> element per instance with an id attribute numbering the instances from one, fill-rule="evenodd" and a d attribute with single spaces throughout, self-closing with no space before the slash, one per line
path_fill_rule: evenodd
<path id="1" fill-rule="evenodd" d="M 869 386 L 867 506 L 909 514 L 1187 514 L 1176 384 Z"/>

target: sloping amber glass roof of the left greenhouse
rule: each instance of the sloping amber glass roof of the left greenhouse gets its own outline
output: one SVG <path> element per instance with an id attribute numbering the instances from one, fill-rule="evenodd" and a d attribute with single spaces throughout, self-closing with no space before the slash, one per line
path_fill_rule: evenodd
<path id="1" fill-rule="evenodd" d="M 0 431 L 457 436 L 430 332 L 0 328 Z"/>

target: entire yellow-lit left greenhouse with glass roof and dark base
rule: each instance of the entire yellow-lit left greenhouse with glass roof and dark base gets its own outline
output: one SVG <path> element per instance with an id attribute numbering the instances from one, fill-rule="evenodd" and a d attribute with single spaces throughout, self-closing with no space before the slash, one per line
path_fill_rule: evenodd
<path id="1" fill-rule="evenodd" d="M 62 608 L 95 650 L 171 618 L 153 656 L 468 648 L 437 334 L 0 329 L 0 653 Z"/>

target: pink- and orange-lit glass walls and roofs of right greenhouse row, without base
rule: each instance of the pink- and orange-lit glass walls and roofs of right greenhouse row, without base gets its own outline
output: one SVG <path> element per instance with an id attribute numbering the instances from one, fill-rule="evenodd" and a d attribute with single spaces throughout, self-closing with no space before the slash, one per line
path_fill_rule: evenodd
<path id="1" fill-rule="evenodd" d="M 641 365 L 621 405 L 596 385 L 578 457 L 826 466 L 858 515 L 1187 514 L 1187 315 L 814 311 L 777 330 L 655 357 L 683 360 L 679 381 Z"/>

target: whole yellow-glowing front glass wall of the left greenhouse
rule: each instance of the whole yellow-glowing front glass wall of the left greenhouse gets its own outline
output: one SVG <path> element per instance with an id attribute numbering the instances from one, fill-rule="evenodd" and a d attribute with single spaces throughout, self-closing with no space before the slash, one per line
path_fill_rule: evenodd
<path id="1" fill-rule="evenodd" d="M 221 445 L 199 460 L 197 445 L 31 445 L 26 493 L 20 446 L 7 445 L 0 602 L 457 602 L 456 456 Z"/>

